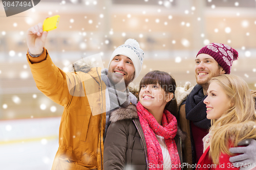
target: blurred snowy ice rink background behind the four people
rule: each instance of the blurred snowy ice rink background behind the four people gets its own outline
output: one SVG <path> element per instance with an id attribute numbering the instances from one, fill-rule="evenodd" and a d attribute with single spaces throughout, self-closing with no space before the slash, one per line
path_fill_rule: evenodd
<path id="1" fill-rule="evenodd" d="M 113 50 L 136 39 L 145 58 L 137 86 L 151 70 L 172 74 L 178 86 L 195 85 L 195 56 L 211 42 L 239 52 L 231 74 L 256 89 L 255 0 L 41 0 L 6 17 L 0 4 L 0 169 L 51 169 L 63 107 L 36 87 L 27 63 L 26 32 L 60 15 L 46 48 L 63 70 L 100 53 L 105 67 Z"/>

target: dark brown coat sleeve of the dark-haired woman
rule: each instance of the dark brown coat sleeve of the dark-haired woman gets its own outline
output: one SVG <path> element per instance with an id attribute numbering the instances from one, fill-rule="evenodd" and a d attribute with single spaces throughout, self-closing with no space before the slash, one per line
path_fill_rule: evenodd
<path id="1" fill-rule="evenodd" d="M 104 141 L 104 169 L 124 169 L 127 150 L 127 124 L 125 120 L 111 123 Z"/>

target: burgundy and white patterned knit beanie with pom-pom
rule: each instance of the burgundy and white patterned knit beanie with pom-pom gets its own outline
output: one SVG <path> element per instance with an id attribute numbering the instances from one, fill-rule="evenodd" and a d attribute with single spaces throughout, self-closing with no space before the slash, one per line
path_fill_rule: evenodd
<path id="1" fill-rule="evenodd" d="M 238 52 L 226 44 L 210 43 L 201 48 L 199 54 L 208 54 L 213 57 L 230 74 L 230 69 L 234 60 L 238 59 Z"/>

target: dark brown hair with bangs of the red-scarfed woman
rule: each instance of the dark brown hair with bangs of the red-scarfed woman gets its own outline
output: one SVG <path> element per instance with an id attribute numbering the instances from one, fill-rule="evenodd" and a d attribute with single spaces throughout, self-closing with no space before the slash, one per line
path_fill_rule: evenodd
<path id="1" fill-rule="evenodd" d="M 165 109 L 177 118 L 178 106 L 175 98 L 176 82 L 175 79 L 172 76 L 170 76 L 167 72 L 159 70 L 148 72 L 140 81 L 139 93 L 142 85 L 157 83 L 166 93 L 174 93 L 174 98 L 166 104 Z"/>

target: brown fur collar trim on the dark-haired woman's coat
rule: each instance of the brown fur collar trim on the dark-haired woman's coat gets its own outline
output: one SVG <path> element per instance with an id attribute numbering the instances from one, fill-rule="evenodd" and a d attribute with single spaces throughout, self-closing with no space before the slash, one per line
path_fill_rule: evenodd
<path id="1" fill-rule="evenodd" d="M 135 119 L 139 118 L 137 113 L 136 105 L 129 105 L 126 108 L 118 108 L 111 113 L 110 121 L 115 123 L 118 120 Z M 182 142 L 185 141 L 186 133 L 183 132 L 179 127 L 177 134 L 181 137 Z"/>

